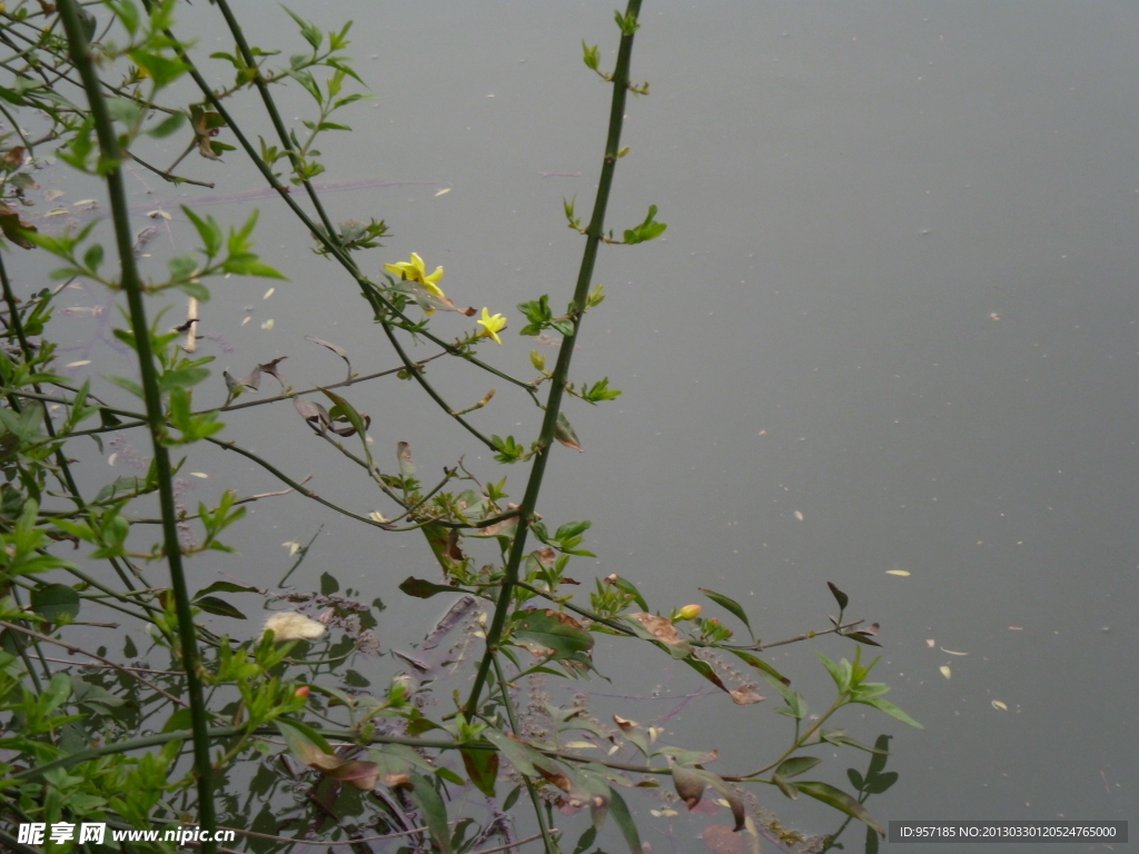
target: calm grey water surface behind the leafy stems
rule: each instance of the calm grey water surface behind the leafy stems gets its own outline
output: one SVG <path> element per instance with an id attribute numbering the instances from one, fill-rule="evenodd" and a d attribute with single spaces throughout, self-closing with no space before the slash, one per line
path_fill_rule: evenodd
<path id="1" fill-rule="evenodd" d="M 412 251 L 444 264 L 457 302 L 510 317 L 493 356 L 527 373 L 514 306 L 542 293 L 559 304 L 572 289 L 581 244 L 562 198 L 591 204 L 608 98 L 580 42 L 612 61 L 611 5 L 305 14 L 355 19 L 352 52 L 377 95 L 346 120 L 355 133 L 322 146 L 329 178 L 437 182 L 330 197 L 341 217 L 393 225 L 367 269 Z M 609 376 L 624 394 L 568 410 L 587 453 L 555 455 L 540 507 L 595 520 L 600 560 L 572 574 L 618 572 L 661 609 L 711 586 L 745 603 L 767 640 L 826 627 L 827 581 L 850 592 L 852 613 L 883 624 L 891 699 L 926 728 L 877 713 L 839 724 L 866 741 L 895 737 L 888 767 L 901 780 L 869 804 L 882 820 L 1139 818 L 1139 7 L 649 0 L 642 20 L 633 76 L 653 95 L 629 106 L 611 224 L 656 204 L 670 228 L 598 264 L 609 298 L 589 318 L 575 378 Z M 393 364 L 350 282 L 296 248 L 303 231 L 271 208 L 262 223 L 262 248 L 293 281 L 267 301 L 264 282 L 219 289 L 203 330 L 236 347 L 215 351 L 219 367 L 244 373 L 289 355 L 297 384 L 338 379 L 338 360 L 304 335 L 344 345 L 359 370 Z M 490 387 L 461 371 L 433 378 L 469 403 Z M 421 471 L 462 452 L 492 471 L 461 432 L 425 420 L 407 385 L 358 397 L 382 453 L 409 440 Z M 475 421 L 521 438 L 534 414 L 501 394 Z M 382 509 L 290 410 L 236 426 L 290 474 L 317 471 L 322 492 Z M 235 470 L 210 453 L 194 468 Z M 241 483 L 272 488 L 252 471 Z M 277 543 L 306 541 L 321 522 L 297 583 L 328 570 L 398 605 L 385 613 L 392 643 L 439 615 L 395 590 L 432 572 L 420 541 L 391 543 L 298 498 L 259 506 L 241 535 L 247 563 L 216 568 L 278 577 L 289 560 Z M 199 565 L 204 580 L 213 568 Z M 702 688 L 663 656 L 647 675 L 624 672 L 620 650 L 611 660 L 615 685 L 588 688 Z M 810 649 L 773 660 L 826 707 Z M 786 738 L 767 706 L 719 697 L 667 726 L 720 748 L 722 773 L 763 764 Z M 843 758 L 825 765 L 837 785 Z M 756 794 L 788 826 L 837 823 Z M 687 826 L 644 821 L 654 849 L 698 849 Z M 861 832 L 844 840 L 861 849 Z M 940 849 L 906 851 L 926 848 Z"/>

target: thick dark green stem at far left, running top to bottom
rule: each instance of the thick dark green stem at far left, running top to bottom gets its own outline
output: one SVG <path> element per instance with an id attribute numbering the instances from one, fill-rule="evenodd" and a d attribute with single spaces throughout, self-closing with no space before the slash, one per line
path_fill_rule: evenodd
<path id="1" fill-rule="evenodd" d="M 174 593 L 174 610 L 178 616 L 178 633 L 181 640 L 182 663 L 186 668 L 186 688 L 190 703 L 190 718 L 194 731 L 194 765 L 197 773 L 198 822 L 207 831 L 211 839 L 218 824 L 213 802 L 213 769 L 210 763 L 210 739 L 207 734 L 207 711 L 202 693 L 202 680 L 198 674 L 198 649 L 194 631 L 194 615 L 190 608 L 190 596 L 186 586 L 186 575 L 182 570 L 181 545 L 178 541 L 178 516 L 174 507 L 174 490 L 171 474 L 170 454 L 163 440 L 165 426 L 163 419 L 162 396 L 158 391 L 158 378 L 155 371 L 155 356 L 150 345 L 150 327 L 147 323 L 146 306 L 142 304 L 142 282 L 134 265 L 133 236 L 128 214 L 126 191 L 123 188 L 121 169 L 122 151 L 118 138 L 112 123 L 107 102 L 99 88 L 99 79 L 90 57 L 90 44 L 83 34 L 79 19 L 79 7 L 75 0 L 60 0 L 59 14 L 67 33 L 67 44 L 71 58 L 79 69 L 87 91 L 91 116 L 95 121 L 96 134 L 99 139 L 99 165 L 106 172 L 107 191 L 110 196 L 112 219 L 115 224 L 115 241 L 122 265 L 122 286 L 126 291 L 130 309 L 131 328 L 138 352 L 139 370 L 142 380 L 142 392 L 146 400 L 147 422 L 150 427 L 150 438 L 154 444 L 155 471 L 158 481 L 158 503 L 162 507 L 163 540 L 166 561 L 170 565 L 171 588 Z M 205 854 L 216 854 L 218 844 L 202 844 Z"/>

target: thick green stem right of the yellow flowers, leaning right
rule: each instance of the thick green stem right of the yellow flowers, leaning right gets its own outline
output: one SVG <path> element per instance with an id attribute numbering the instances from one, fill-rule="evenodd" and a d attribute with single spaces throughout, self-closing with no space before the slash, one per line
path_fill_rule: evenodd
<path id="1" fill-rule="evenodd" d="M 632 15 L 637 17 L 639 13 L 640 0 L 629 0 L 625 16 Z M 605 210 L 609 203 L 609 190 L 613 187 L 613 174 L 616 170 L 617 151 L 621 147 L 621 128 L 625 115 L 625 97 L 629 91 L 629 65 L 632 59 L 632 33 L 622 33 L 621 47 L 617 49 L 617 64 L 613 72 L 613 102 L 609 108 L 609 133 L 605 143 L 605 161 L 601 165 L 601 179 L 597 186 L 593 215 L 590 219 L 589 229 L 587 230 L 585 252 L 582 255 L 581 269 L 577 271 L 577 286 L 573 295 L 573 309 L 571 310 L 573 330 L 570 335 L 565 336 L 562 347 L 558 351 L 557 366 L 554 369 L 549 396 L 546 400 L 546 416 L 542 419 L 542 429 L 538 438 L 538 453 L 534 457 L 534 465 L 530 470 L 530 481 L 526 483 L 526 493 L 522 500 L 522 507 L 518 509 L 521 522 L 517 533 L 514 536 L 514 542 L 510 545 L 506 578 L 494 608 L 494 619 L 486 632 L 486 651 L 483 654 L 483 660 L 480 663 L 478 672 L 475 674 L 475 683 L 470 688 L 470 696 L 464 706 L 464 711 L 468 717 L 472 716 L 478 706 L 478 695 L 486 682 L 486 674 L 490 671 L 491 663 L 494 660 L 494 654 L 498 651 L 502 630 L 506 627 L 510 600 L 518 583 L 518 567 L 522 565 L 522 559 L 526 551 L 526 533 L 533 519 L 534 508 L 538 504 L 538 493 L 542 487 L 542 477 L 546 474 L 546 463 L 549 460 L 550 445 L 554 442 L 554 428 L 560 411 L 562 393 L 566 384 L 566 378 L 570 376 L 570 361 L 573 358 L 574 343 L 577 339 L 577 330 L 585 313 L 585 298 L 589 295 L 589 286 L 593 278 L 597 249 L 601 244 Z"/>

